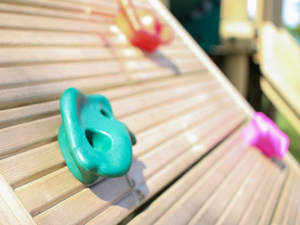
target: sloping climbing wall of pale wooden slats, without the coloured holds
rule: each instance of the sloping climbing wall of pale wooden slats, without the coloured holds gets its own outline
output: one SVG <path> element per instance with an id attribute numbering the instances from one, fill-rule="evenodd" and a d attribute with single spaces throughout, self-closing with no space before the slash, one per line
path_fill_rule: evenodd
<path id="1" fill-rule="evenodd" d="M 0 3 L 0 170 L 12 196 L 22 202 L 18 213 L 27 210 L 25 215 L 38 224 L 117 223 L 198 162 L 182 176 L 186 184 L 179 181 L 182 190 L 165 192 L 173 198 L 160 201 L 161 211 L 153 219 L 197 204 L 196 199 L 180 200 L 194 192 L 201 205 L 182 217 L 186 221 L 231 221 L 239 202 L 243 211 L 255 213 L 254 220 L 269 221 L 285 170 L 274 178 L 273 162 L 246 150 L 240 125 L 253 109 L 160 2 L 133 2 L 154 8 L 172 26 L 170 45 L 155 53 L 131 46 L 114 24 L 116 0 Z M 68 170 L 56 136 L 58 98 L 68 87 L 107 96 L 115 116 L 135 133 L 132 166 L 125 176 L 85 185 Z M 292 157 L 286 161 L 298 166 Z M 258 174 L 260 168 L 264 173 Z M 210 174 L 216 178 L 209 179 Z M 260 211 L 254 210 L 249 196 L 256 196 L 257 186 L 266 188 L 261 180 L 267 176 L 274 185 Z M 248 179 L 253 179 L 250 186 Z M 235 219 L 242 216 L 240 210 Z M 5 218 L 14 224 L 13 216 Z"/>

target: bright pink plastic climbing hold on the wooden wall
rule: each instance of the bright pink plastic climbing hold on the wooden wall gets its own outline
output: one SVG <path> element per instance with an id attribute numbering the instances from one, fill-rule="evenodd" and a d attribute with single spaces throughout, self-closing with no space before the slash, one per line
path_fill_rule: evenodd
<path id="1" fill-rule="evenodd" d="M 282 159 L 289 146 L 289 138 L 263 112 L 255 112 L 252 120 L 242 131 L 249 145 L 256 146 L 268 157 Z"/>

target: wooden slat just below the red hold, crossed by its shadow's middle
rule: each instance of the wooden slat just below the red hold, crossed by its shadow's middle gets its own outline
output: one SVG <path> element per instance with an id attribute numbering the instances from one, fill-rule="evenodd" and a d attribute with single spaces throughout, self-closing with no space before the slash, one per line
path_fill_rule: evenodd
<path id="1" fill-rule="evenodd" d="M 165 53 L 164 53 L 165 52 Z M 152 61 L 158 61 L 158 64 L 161 60 L 167 60 L 170 63 L 180 65 L 183 61 L 191 61 L 195 59 L 195 56 L 190 51 L 161 51 L 162 54 L 153 55 L 150 58 Z M 110 47 L 1 47 L 0 48 L 0 65 L 9 65 L 9 64 L 24 64 L 24 63 L 46 63 L 46 62 L 58 62 L 58 61 L 79 61 L 79 60 L 101 60 L 101 59 L 111 59 L 111 58 L 133 58 L 133 57 L 142 57 L 144 52 L 137 47 L 119 47 L 119 48 L 110 48 Z M 5 55 L 5 57 L 4 57 Z M 184 58 L 184 60 L 182 60 Z M 159 61 L 160 60 L 160 61 Z M 178 63 L 176 63 L 178 62 Z M 200 63 L 199 63 L 200 64 Z M 162 64 L 164 65 L 164 64 Z M 167 65 L 167 64 L 165 64 Z"/>

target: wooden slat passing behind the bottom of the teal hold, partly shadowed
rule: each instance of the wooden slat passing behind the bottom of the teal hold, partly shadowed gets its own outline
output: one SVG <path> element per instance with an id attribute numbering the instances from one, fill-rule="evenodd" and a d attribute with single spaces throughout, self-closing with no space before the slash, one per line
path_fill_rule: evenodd
<path id="1" fill-rule="evenodd" d="M 227 112 L 227 111 L 226 111 Z M 211 116 L 210 116 L 211 117 Z M 220 117 L 221 118 L 221 117 Z M 208 119 L 208 117 L 206 118 L 208 120 L 208 122 L 211 122 L 211 118 Z M 198 127 L 197 127 L 198 126 Z M 151 152 L 151 154 L 145 155 L 143 157 L 143 159 L 139 158 L 138 161 L 142 160 L 143 163 L 142 164 L 146 164 L 147 165 L 147 161 L 151 161 L 151 157 L 156 157 L 158 154 L 167 154 L 168 153 L 168 157 L 164 157 L 161 158 L 161 160 L 159 160 L 155 165 L 149 165 L 148 168 L 146 170 L 143 171 L 143 176 L 147 177 L 147 174 L 151 174 L 154 171 L 157 170 L 157 167 L 162 166 L 164 163 L 166 163 L 167 161 L 172 160 L 172 158 L 176 157 L 176 151 L 180 152 L 182 150 L 184 150 L 186 148 L 186 146 L 188 147 L 188 145 L 191 145 L 191 140 L 190 137 L 187 135 L 186 136 L 186 132 L 184 131 L 183 134 L 181 135 L 176 135 L 174 137 L 172 137 L 171 140 L 165 142 L 164 144 L 158 146 L 157 148 L 154 148 Z M 196 124 L 194 127 L 190 128 L 189 133 L 193 133 L 194 135 L 200 135 L 200 133 L 203 132 L 203 126 L 199 123 Z M 188 133 L 187 133 L 188 134 Z M 195 142 L 197 139 L 194 139 L 193 142 Z M 135 154 L 135 149 L 133 148 L 133 154 Z M 178 153 L 177 153 L 178 154 Z M 132 163 L 132 169 L 130 171 L 136 170 L 136 173 L 128 173 L 129 176 L 135 178 L 135 183 L 137 183 L 140 180 L 140 163 L 139 162 L 133 162 Z M 67 168 L 66 168 L 67 169 Z M 60 169 L 62 171 L 62 169 Z M 77 191 L 78 187 L 77 186 L 66 186 L 67 183 L 65 183 L 65 185 L 61 184 L 59 185 L 59 187 L 55 186 L 48 186 L 44 183 L 51 183 L 51 182 L 56 182 L 57 176 L 59 176 L 59 179 L 65 179 L 68 180 L 68 182 L 70 182 L 72 175 L 70 174 L 69 171 L 64 171 L 65 175 L 63 174 L 56 174 L 56 172 L 50 173 L 44 177 L 41 177 L 37 180 L 34 180 L 32 182 L 29 182 L 21 187 L 18 187 L 15 189 L 16 193 L 18 194 L 18 196 L 22 199 L 22 202 L 26 205 L 27 209 L 29 210 L 29 212 L 32 215 L 35 215 L 36 213 L 40 212 L 41 209 L 46 209 L 47 207 L 52 206 L 53 204 L 57 203 L 56 198 L 58 198 L 60 201 L 62 199 L 65 199 L 66 197 L 69 196 L 69 193 L 72 193 L 73 191 Z M 66 176 L 64 178 L 64 176 Z M 72 179 L 76 180 L 74 177 L 72 177 Z M 53 181 L 55 180 L 55 181 Z M 79 181 L 78 181 L 79 182 Z M 75 182 L 74 183 L 78 183 Z M 79 185 L 79 184 L 78 184 Z M 80 185 L 81 188 L 83 188 L 83 185 Z M 34 189 L 35 191 L 32 191 L 32 189 Z M 37 190 L 39 189 L 39 190 Z M 44 191 L 46 191 L 50 194 L 51 193 L 51 198 L 47 196 L 44 196 L 43 193 Z M 65 193 L 66 192 L 66 193 Z M 65 193 L 65 194 L 64 194 Z M 32 197 L 32 194 L 34 195 L 34 198 Z M 61 199 L 62 198 L 62 199 Z M 54 200 L 53 200 L 54 199 Z"/>

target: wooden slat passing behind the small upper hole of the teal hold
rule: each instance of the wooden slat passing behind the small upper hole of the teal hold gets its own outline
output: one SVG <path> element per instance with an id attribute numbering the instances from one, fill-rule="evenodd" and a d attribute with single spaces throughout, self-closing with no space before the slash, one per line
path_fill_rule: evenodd
<path id="1" fill-rule="evenodd" d="M 189 83 L 186 85 L 187 86 L 185 87 L 185 90 L 190 90 L 190 87 L 194 84 Z M 198 88 L 199 86 L 195 86 L 195 87 Z M 123 107 L 122 112 L 126 113 L 128 110 L 132 110 L 132 108 L 134 109 L 134 111 L 146 109 L 147 107 L 161 103 L 161 101 L 163 102 L 175 98 L 177 95 L 182 94 L 182 91 L 180 92 L 180 89 L 182 88 L 184 89 L 184 86 L 183 87 L 178 87 L 176 85 L 170 86 L 167 87 L 166 90 L 171 91 L 173 95 L 172 94 L 165 95 L 165 92 L 161 91 L 154 96 L 152 96 L 151 94 L 149 95 L 148 93 L 146 95 L 148 96 L 147 99 L 143 98 L 145 96 L 144 94 L 140 96 L 139 93 L 133 95 L 133 97 L 128 96 L 127 99 L 131 100 L 131 107 L 128 107 L 128 105 L 130 104 L 127 101 L 127 105 L 126 105 L 127 107 L 126 108 Z M 152 92 L 153 91 L 150 91 L 150 93 Z M 174 93 L 176 94 L 174 95 Z M 162 97 L 163 94 L 165 95 L 164 98 Z M 154 97 L 155 98 L 160 97 L 160 101 L 155 101 Z M 117 107 L 118 102 L 122 103 L 123 101 L 125 101 L 124 99 L 122 101 L 111 101 L 113 110 L 115 110 L 115 107 Z M 148 101 L 147 104 L 144 103 L 145 100 Z M 122 114 L 116 113 L 115 116 L 119 118 L 122 116 Z M 2 145 L 0 148 L 0 152 L 2 155 L 1 157 L 4 158 L 13 155 L 17 152 L 25 151 L 27 149 L 31 149 L 35 146 L 39 146 L 46 142 L 50 142 L 51 140 L 56 138 L 57 130 L 60 124 L 61 124 L 61 117 L 58 114 L 58 115 L 53 115 L 46 118 L 37 119 L 30 122 L 3 128 L 0 133 L 0 136 L 2 136 Z M 15 140 L 15 138 L 17 138 L 17 141 Z"/>

